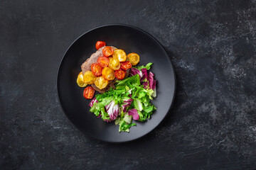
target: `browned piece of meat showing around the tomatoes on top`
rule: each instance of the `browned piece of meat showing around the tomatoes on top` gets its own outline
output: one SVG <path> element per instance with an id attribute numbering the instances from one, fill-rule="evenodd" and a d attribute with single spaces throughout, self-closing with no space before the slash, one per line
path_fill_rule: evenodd
<path id="1" fill-rule="evenodd" d="M 110 46 L 112 47 L 114 50 L 117 49 L 114 46 Z M 82 74 L 85 74 L 85 72 L 87 71 L 92 71 L 91 70 L 91 65 L 95 62 L 97 62 L 97 59 L 99 57 L 101 57 L 102 54 L 102 50 L 104 47 L 101 47 L 99 50 L 97 50 L 97 52 L 93 53 L 90 58 L 88 58 L 84 63 L 82 63 L 81 65 L 81 69 L 82 69 Z M 129 76 L 129 69 L 127 69 L 127 74 L 126 77 Z M 106 91 L 108 91 L 110 89 L 110 87 L 112 87 L 112 89 L 115 89 L 114 83 L 115 81 L 117 81 L 118 79 L 115 78 L 114 80 L 109 81 L 109 84 L 107 84 L 105 89 L 98 89 L 97 86 L 95 86 L 95 84 L 92 84 L 92 88 L 95 89 L 95 91 L 98 91 L 100 94 L 105 93 Z"/>

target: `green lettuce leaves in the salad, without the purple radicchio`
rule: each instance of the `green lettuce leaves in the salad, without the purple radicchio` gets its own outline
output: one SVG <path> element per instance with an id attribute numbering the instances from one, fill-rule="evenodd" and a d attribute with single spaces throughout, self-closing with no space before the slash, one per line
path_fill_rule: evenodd
<path id="1" fill-rule="evenodd" d="M 137 67 L 137 69 L 150 69 L 151 64 L 152 63 L 146 64 L 146 66 Z M 136 125 L 136 123 L 132 123 L 132 116 L 129 116 L 127 112 L 124 113 L 122 111 L 122 105 L 124 100 L 132 98 L 133 101 L 131 105 L 126 108 L 127 111 L 136 108 L 139 114 L 139 121 L 141 122 L 144 122 L 147 118 L 151 118 L 154 110 L 156 110 L 156 107 L 150 103 L 153 99 L 152 94 L 154 91 L 152 89 L 144 89 L 141 85 L 139 74 L 116 81 L 115 87 L 115 89 L 110 89 L 104 94 L 97 94 L 95 97 L 98 103 L 93 104 L 92 108 L 90 108 L 90 112 L 94 113 L 96 116 L 101 115 L 102 120 L 110 120 L 105 106 L 111 101 L 118 103 L 121 108 L 121 113 L 119 113 L 119 116 L 114 123 L 119 125 L 119 132 L 129 132 L 129 128 Z"/>

